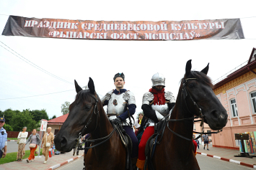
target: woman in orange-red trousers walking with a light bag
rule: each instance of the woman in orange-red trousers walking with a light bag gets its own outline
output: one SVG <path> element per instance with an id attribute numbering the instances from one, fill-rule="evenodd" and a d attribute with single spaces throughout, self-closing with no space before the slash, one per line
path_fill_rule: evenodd
<path id="1" fill-rule="evenodd" d="M 35 149 L 37 145 L 40 145 L 40 137 L 36 129 L 33 129 L 32 134 L 27 139 L 27 143 L 30 142 L 30 157 L 27 159 L 27 163 L 35 160 Z M 27 145 L 26 143 L 26 145 Z"/>

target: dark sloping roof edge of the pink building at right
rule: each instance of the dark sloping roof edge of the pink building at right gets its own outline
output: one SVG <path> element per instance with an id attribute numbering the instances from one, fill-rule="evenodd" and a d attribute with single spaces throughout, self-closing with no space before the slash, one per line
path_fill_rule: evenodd
<path id="1" fill-rule="evenodd" d="M 237 77 L 240 77 L 241 75 L 244 75 L 247 72 L 253 72 L 256 75 L 256 72 L 253 71 L 253 69 L 256 68 L 256 48 L 252 48 L 252 53 L 250 55 L 249 60 L 242 63 L 242 65 L 239 65 L 239 67 L 234 68 L 234 70 L 231 70 L 231 72 L 226 73 L 226 75 L 220 77 L 218 80 L 214 81 L 214 89 L 221 87 L 222 85 L 225 85 L 227 82 L 230 82 L 231 80 L 236 79 Z"/>

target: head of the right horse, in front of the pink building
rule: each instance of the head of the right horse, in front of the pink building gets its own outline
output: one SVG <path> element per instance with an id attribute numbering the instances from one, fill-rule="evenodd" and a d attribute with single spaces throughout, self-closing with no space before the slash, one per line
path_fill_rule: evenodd
<path id="1" fill-rule="evenodd" d="M 219 99 L 213 93 L 213 84 L 207 76 L 209 64 L 200 72 L 191 71 L 191 60 L 187 61 L 182 78 L 182 98 L 190 113 L 201 115 L 211 129 L 220 130 L 226 126 L 228 115 Z M 200 112 L 201 110 L 201 112 Z"/>

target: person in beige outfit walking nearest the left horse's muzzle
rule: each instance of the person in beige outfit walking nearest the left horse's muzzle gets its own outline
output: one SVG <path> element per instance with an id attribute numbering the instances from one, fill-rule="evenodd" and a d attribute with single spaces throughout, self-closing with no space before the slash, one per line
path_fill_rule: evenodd
<path id="1" fill-rule="evenodd" d="M 47 133 L 45 133 L 45 135 L 43 136 L 43 140 L 42 140 L 42 144 L 41 144 L 41 148 L 43 148 L 42 154 L 43 156 L 45 156 L 45 161 L 43 162 L 43 164 L 45 164 L 48 160 L 48 155 L 49 155 L 49 148 L 51 148 L 53 146 L 53 133 L 50 132 L 51 128 L 48 127 L 47 128 Z"/>

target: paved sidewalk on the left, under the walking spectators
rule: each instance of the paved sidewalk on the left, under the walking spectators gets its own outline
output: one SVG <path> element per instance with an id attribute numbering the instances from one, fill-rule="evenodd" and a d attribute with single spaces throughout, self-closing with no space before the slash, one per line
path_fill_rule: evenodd
<path id="1" fill-rule="evenodd" d="M 84 155 L 84 151 L 79 151 L 79 156 L 73 156 L 73 150 L 65 153 L 65 154 L 59 154 L 52 156 L 51 158 L 48 158 L 47 163 L 43 164 L 43 161 L 45 161 L 45 156 L 40 155 L 42 157 L 37 158 L 35 157 L 35 161 L 32 161 L 30 163 L 27 163 L 26 159 L 23 159 L 22 161 L 14 161 L 6 164 L 0 165 L 0 170 L 46 170 L 46 169 L 56 169 L 59 166 L 62 166 L 64 164 L 69 163 L 70 161 L 73 161 L 74 159 L 78 159 L 79 157 Z M 53 166 L 53 167 L 51 167 Z"/>

